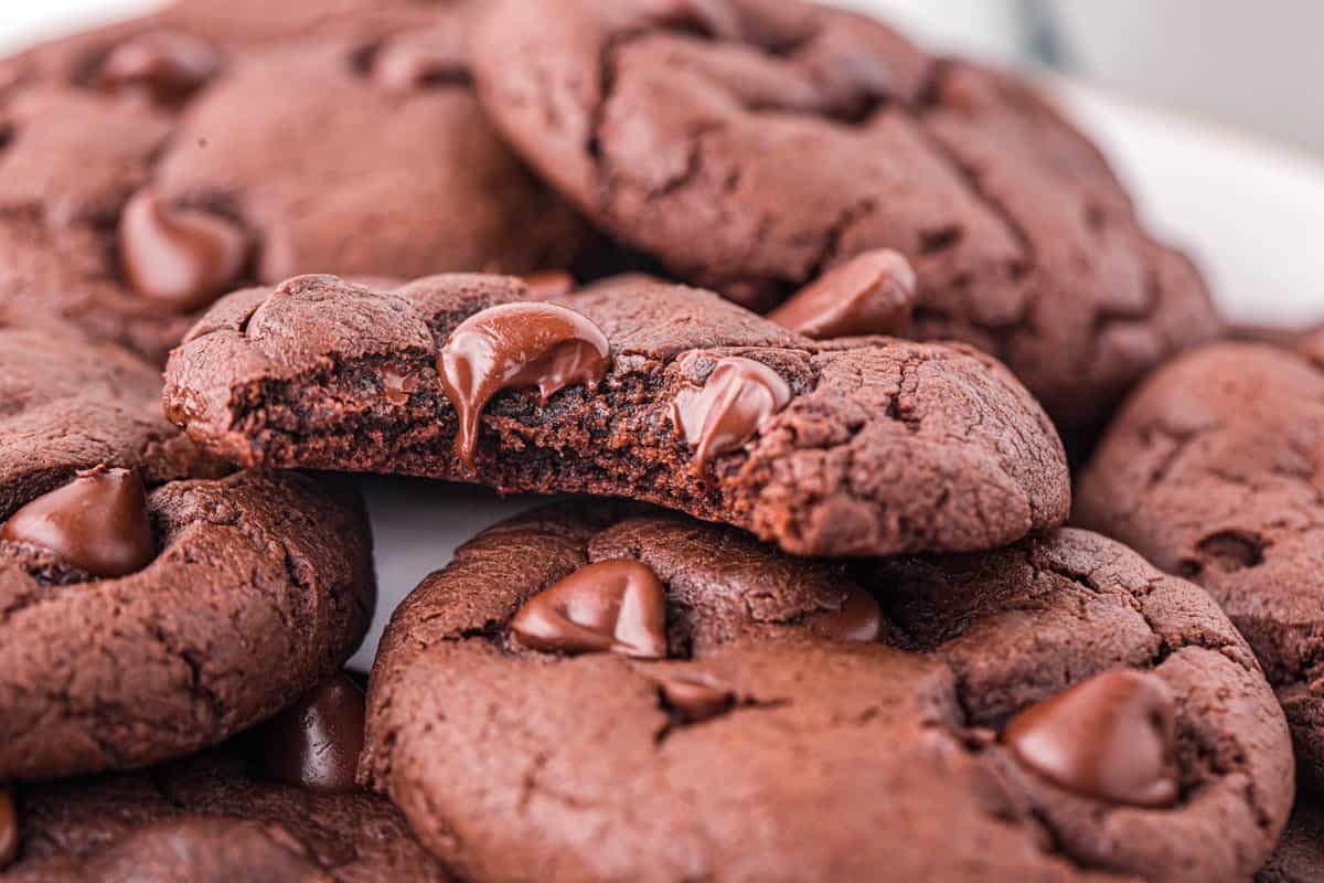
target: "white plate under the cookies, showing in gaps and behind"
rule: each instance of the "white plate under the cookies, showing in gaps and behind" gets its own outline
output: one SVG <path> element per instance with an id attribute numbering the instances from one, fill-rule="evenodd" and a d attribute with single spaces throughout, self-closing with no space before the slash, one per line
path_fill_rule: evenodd
<path id="1" fill-rule="evenodd" d="M 858 0 L 855 0 L 858 4 Z M 0 0 L 0 52 L 158 0 Z M 1324 163 L 1254 136 L 1050 81 L 1070 116 L 1099 139 L 1165 238 L 1188 248 L 1233 319 L 1324 320 Z M 455 547 L 530 498 L 432 482 L 367 479 L 380 602 L 354 665 L 367 667 L 391 610 Z"/>

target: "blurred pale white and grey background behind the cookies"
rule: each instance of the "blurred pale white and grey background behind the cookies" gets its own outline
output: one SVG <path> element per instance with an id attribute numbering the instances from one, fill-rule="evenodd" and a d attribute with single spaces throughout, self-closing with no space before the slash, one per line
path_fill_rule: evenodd
<path id="1" fill-rule="evenodd" d="M 1039 79 L 1231 318 L 1324 320 L 1324 0 L 834 1 Z M 0 53 L 160 5 L 0 0 Z"/>

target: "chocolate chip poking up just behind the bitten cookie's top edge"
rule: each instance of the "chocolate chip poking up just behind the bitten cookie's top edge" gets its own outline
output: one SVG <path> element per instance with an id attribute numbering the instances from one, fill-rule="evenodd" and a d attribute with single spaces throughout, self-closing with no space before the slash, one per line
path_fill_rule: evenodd
<path id="1" fill-rule="evenodd" d="M 829 270 L 768 314 L 816 340 L 898 334 L 915 308 L 915 270 L 887 249 L 865 252 Z"/>

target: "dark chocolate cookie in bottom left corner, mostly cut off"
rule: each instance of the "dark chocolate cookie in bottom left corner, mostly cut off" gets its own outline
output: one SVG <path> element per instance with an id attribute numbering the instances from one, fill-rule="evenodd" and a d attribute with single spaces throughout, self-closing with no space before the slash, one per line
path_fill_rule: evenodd
<path id="1" fill-rule="evenodd" d="M 339 714 L 352 714 L 350 702 Z M 361 692 L 357 723 L 361 745 Z M 16 789 L 16 860 L 0 875 L 15 883 L 450 879 L 387 801 L 273 778 L 262 759 L 285 735 L 274 731 L 139 773 Z M 0 821 L 0 837 L 3 829 Z"/>

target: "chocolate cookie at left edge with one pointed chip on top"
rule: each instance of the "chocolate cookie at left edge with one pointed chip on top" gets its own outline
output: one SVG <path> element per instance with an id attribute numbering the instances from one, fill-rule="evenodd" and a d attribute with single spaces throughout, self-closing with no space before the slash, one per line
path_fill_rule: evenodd
<path id="1" fill-rule="evenodd" d="M 0 782 L 214 744 L 367 629 L 357 492 L 208 478 L 159 396 L 155 371 L 111 344 L 0 328 Z"/>

